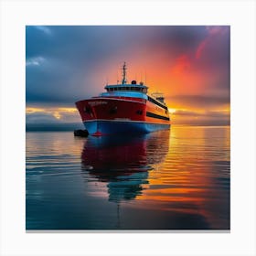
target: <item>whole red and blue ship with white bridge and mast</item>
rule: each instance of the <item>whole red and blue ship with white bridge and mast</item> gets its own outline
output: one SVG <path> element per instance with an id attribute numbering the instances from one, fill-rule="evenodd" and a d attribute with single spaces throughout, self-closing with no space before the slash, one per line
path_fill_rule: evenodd
<path id="1" fill-rule="evenodd" d="M 170 116 L 163 93 L 149 95 L 143 81 L 126 79 L 123 63 L 121 83 L 107 84 L 99 96 L 75 102 L 89 134 L 151 133 L 170 129 Z"/>

